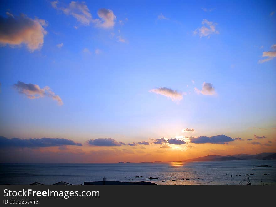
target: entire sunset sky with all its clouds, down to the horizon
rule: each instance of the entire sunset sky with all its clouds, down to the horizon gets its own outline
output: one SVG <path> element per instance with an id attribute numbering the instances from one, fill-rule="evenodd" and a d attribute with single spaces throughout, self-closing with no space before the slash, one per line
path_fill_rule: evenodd
<path id="1" fill-rule="evenodd" d="M 276 152 L 275 1 L 0 2 L 0 162 Z"/>

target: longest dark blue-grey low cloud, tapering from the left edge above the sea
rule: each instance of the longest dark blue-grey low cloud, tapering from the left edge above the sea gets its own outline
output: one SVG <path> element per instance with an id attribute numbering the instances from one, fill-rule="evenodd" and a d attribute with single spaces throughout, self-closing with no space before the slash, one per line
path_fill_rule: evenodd
<path id="1" fill-rule="evenodd" d="M 63 138 L 8 139 L 6 137 L 0 137 L 0 147 L 52 147 L 62 145 L 82 146 L 80 143 Z"/>

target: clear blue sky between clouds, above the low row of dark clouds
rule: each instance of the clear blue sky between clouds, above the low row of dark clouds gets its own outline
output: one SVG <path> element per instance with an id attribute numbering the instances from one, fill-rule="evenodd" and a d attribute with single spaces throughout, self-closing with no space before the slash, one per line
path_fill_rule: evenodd
<path id="1" fill-rule="evenodd" d="M 275 138 L 276 58 L 259 63 L 276 44 L 274 1 L 77 2 L 89 9 L 89 25 L 62 10 L 70 2 L 1 1 L 2 20 L 8 12 L 47 23 L 40 48 L 0 40 L 1 135 L 127 142 L 186 127 L 246 138 L 255 127 Z M 114 25 L 101 25 L 101 8 Z M 18 93 L 18 81 L 49 86 L 63 105 Z M 213 94 L 200 92 L 204 83 Z M 182 99 L 150 92 L 162 87 Z"/>

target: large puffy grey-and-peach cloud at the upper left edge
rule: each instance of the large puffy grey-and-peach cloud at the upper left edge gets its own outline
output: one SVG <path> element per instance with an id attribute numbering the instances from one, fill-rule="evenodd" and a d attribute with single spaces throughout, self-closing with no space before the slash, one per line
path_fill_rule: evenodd
<path id="1" fill-rule="evenodd" d="M 6 12 L 7 18 L 0 16 L 0 44 L 21 45 L 25 44 L 33 52 L 43 46 L 44 27 L 47 23 L 43 19 L 31 19 L 25 14 L 13 16 Z"/>

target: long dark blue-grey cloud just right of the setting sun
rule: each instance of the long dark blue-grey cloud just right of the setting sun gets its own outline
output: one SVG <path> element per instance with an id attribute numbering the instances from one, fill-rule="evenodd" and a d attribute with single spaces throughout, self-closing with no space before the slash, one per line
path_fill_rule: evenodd
<path id="1" fill-rule="evenodd" d="M 207 136 L 190 137 L 190 141 L 195 144 L 204 144 L 204 143 L 226 144 L 226 142 L 234 141 L 234 139 L 224 134 L 221 134 L 221 135 L 216 135 L 212 137 L 207 137 Z"/>

